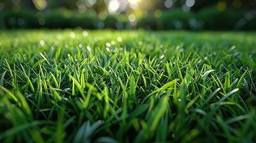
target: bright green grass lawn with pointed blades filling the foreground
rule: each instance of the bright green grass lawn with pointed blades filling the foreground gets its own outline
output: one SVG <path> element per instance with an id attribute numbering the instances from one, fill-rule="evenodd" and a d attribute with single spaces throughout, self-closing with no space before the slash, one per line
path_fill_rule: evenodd
<path id="1" fill-rule="evenodd" d="M 254 142 L 255 38 L 0 31 L 0 142 Z"/>

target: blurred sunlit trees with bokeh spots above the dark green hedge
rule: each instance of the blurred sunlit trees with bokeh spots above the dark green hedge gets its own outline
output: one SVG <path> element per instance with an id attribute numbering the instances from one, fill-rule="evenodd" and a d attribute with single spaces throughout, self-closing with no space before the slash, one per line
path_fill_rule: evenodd
<path id="1" fill-rule="evenodd" d="M 192 4 L 189 10 L 198 11 L 210 6 L 219 7 L 219 10 L 227 8 L 244 8 L 253 10 L 256 7 L 255 0 L 1 0 L 2 7 L 19 9 L 21 7 L 33 10 L 47 11 L 54 8 L 66 8 L 68 10 L 80 11 L 108 11 L 111 1 L 118 1 L 118 13 L 136 11 L 172 10 L 173 8 L 183 8 L 186 11 L 186 4 Z M 132 4 L 138 3 L 138 8 L 132 8 Z M 125 8 L 123 8 L 125 7 Z M 122 9 L 122 10 L 120 10 Z M 1 6 L 0 6 L 1 10 Z"/>

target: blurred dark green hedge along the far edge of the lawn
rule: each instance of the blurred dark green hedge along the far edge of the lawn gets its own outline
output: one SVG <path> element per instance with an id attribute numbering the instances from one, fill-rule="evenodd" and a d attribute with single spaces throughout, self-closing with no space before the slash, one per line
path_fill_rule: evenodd
<path id="1" fill-rule="evenodd" d="M 250 15 L 250 19 L 246 18 L 246 14 Z M 161 17 L 158 18 L 152 13 L 138 17 L 138 24 L 134 27 L 131 26 L 127 15 L 106 15 L 104 20 L 102 18 L 99 20 L 98 17 L 99 15 L 95 13 L 79 13 L 65 9 L 54 9 L 44 13 L 25 8 L 18 13 L 6 9 L 0 11 L 0 28 L 65 29 L 80 26 L 84 29 L 139 29 L 143 27 L 152 30 L 256 30 L 254 26 L 256 18 L 247 10 L 218 11 L 216 8 L 205 8 L 196 12 L 185 12 L 176 8 L 163 11 Z M 40 20 L 44 20 L 41 25 Z"/>

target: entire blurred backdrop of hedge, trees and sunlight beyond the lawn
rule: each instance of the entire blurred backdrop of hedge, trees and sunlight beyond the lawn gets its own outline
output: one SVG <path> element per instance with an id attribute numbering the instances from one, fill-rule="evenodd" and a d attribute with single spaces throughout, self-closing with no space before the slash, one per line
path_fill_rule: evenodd
<path id="1" fill-rule="evenodd" d="M 256 30 L 256 0 L 0 0 L 0 29 Z"/>

